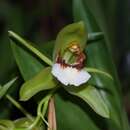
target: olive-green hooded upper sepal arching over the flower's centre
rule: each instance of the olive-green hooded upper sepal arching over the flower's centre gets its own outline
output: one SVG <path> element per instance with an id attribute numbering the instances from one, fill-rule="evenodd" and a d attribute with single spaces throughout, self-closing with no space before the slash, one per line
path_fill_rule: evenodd
<path id="1" fill-rule="evenodd" d="M 87 32 L 82 21 L 65 26 L 57 35 L 54 47 L 53 60 L 58 53 L 63 55 L 64 51 L 75 42 L 83 50 L 87 41 Z"/>

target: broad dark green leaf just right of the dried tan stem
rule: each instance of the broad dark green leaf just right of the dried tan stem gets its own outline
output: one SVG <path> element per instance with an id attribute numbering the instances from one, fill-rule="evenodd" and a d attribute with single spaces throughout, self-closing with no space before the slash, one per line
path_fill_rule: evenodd
<path id="1" fill-rule="evenodd" d="M 82 99 L 62 89 L 55 95 L 55 106 L 58 130 L 99 130 Z"/>

